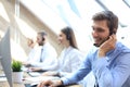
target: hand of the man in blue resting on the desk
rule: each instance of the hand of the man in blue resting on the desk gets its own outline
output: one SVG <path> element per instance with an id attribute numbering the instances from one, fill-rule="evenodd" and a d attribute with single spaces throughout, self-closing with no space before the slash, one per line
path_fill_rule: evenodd
<path id="1" fill-rule="evenodd" d="M 62 80 L 43 80 L 40 84 L 38 84 L 37 87 L 57 87 L 62 85 Z"/>

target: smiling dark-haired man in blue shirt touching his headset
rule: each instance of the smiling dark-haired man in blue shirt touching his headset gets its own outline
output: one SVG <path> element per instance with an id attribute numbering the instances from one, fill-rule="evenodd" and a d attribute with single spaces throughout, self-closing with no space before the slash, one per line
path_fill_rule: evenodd
<path id="1" fill-rule="evenodd" d="M 95 87 L 130 87 L 130 49 L 116 39 L 118 17 L 112 11 L 95 13 L 92 17 L 94 48 L 79 70 L 57 80 L 43 80 L 38 87 L 56 87 L 81 80 L 93 72 Z"/>

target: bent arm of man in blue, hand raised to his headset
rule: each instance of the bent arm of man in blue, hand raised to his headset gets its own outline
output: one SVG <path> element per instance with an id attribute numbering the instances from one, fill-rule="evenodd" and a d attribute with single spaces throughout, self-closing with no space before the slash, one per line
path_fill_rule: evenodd
<path id="1" fill-rule="evenodd" d="M 110 57 L 107 57 L 106 53 L 112 50 Z M 100 46 L 98 60 L 93 66 L 100 87 L 121 87 L 129 77 L 130 51 L 123 50 L 116 48 L 115 35 L 109 36 L 109 39 Z"/>

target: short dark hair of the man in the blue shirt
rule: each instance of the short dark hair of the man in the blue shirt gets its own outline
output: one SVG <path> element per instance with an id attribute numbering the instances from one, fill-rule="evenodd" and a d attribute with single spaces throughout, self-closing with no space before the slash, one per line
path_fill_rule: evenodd
<path id="1" fill-rule="evenodd" d="M 116 34 L 114 29 L 117 30 L 118 28 L 118 17 L 112 11 L 102 11 L 95 13 L 92 17 L 93 21 L 107 21 L 107 26 L 109 28 L 109 35 Z"/>

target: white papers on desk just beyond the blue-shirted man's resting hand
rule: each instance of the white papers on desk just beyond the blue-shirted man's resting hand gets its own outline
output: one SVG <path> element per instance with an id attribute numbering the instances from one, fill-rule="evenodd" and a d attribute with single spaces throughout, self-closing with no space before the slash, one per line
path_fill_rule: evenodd
<path id="1" fill-rule="evenodd" d="M 25 80 L 29 80 L 32 83 L 41 82 L 41 80 L 48 80 L 48 79 L 58 79 L 60 77 L 54 76 L 38 76 L 38 77 L 26 77 Z"/>

